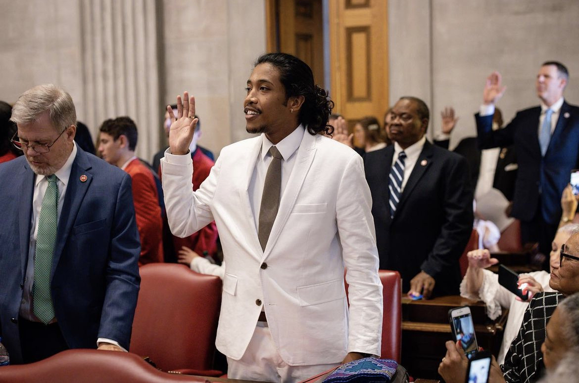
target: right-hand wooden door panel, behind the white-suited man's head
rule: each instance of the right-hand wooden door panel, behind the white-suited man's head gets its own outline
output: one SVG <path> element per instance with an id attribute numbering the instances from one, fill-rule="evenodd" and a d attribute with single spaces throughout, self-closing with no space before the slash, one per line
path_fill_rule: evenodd
<path id="1" fill-rule="evenodd" d="M 329 0 L 331 97 L 350 128 L 383 121 L 388 95 L 387 0 Z"/>

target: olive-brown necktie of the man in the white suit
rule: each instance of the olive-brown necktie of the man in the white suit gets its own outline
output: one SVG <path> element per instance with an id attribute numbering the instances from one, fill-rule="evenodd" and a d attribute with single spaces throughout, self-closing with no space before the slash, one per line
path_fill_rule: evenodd
<path id="1" fill-rule="evenodd" d="M 267 168 L 265 182 L 263 183 L 263 194 L 261 196 L 261 208 L 259 208 L 259 244 L 265 251 L 265 245 L 272 231 L 273 221 L 276 220 L 277 209 L 280 207 L 281 194 L 281 160 L 284 157 L 275 146 L 269 149 L 272 155 L 272 162 Z"/>

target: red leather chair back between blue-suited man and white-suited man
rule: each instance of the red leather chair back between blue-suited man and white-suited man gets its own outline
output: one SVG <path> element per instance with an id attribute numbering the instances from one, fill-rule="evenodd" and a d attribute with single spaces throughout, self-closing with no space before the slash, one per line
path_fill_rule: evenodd
<path id="1" fill-rule="evenodd" d="M 130 351 L 163 371 L 211 370 L 221 279 L 176 263 L 146 264 L 140 273 Z"/>

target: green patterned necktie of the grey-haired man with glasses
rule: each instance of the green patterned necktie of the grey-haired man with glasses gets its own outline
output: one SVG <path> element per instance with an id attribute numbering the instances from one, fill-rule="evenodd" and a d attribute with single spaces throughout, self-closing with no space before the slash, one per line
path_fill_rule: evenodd
<path id="1" fill-rule="evenodd" d="M 34 315 L 45 325 L 54 318 L 54 307 L 50 296 L 50 270 L 56 244 L 58 219 L 58 186 L 56 175 L 46 177 L 48 187 L 42 200 L 36 234 L 36 256 L 34 257 Z"/>

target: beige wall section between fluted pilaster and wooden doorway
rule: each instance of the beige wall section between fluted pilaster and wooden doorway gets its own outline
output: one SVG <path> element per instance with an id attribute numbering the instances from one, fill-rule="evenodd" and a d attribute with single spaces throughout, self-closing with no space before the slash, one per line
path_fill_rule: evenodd
<path id="1" fill-rule="evenodd" d="M 163 5 L 162 100 L 173 104 L 184 90 L 195 95 L 199 143 L 218 154 L 248 137 L 244 87 L 252 62 L 265 51 L 265 2 L 164 0 Z"/>

